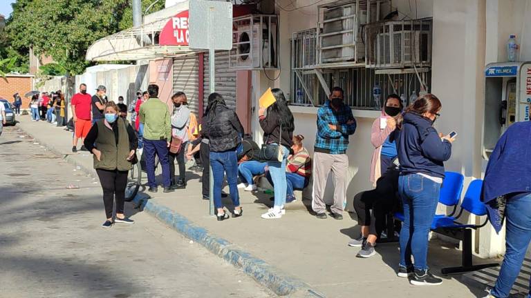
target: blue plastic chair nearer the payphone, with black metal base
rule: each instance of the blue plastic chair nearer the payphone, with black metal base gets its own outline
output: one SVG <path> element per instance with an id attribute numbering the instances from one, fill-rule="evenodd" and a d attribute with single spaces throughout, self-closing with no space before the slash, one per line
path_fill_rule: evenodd
<path id="1" fill-rule="evenodd" d="M 434 230 L 434 232 L 463 241 L 463 251 L 461 253 L 462 266 L 443 268 L 441 270 L 443 274 L 469 272 L 499 265 L 497 263 L 481 265 L 474 265 L 472 263 L 472 230 L 482 228 L 488 223 L 489 219 L 486 218 L 481 225 L 462 224 L 456 221 L 461 217 L 461 215 L 463 215 L 464 210 L 476 216 L 487 215 L 487 208 L 481 201 L 482 187 L 483 180 L 472 181 L 467 188 L 463 203 L 461 203 L 461 210 L 459 211 L 459 214 L 456 217 L 447 216 L 436 218 L 431 224 L 431 230 Z"/>

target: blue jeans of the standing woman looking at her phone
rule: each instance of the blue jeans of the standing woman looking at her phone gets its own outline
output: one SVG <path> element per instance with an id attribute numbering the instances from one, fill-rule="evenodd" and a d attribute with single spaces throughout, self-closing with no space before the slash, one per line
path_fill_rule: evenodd
<path id="1" fill-rule="evenodd" d="M 418 174 L 400 176 L 398 193 L 404 204 L 400 230 L 400 266 L 427 270 L 428 236 L 439 199 L 440 183 Z"/>

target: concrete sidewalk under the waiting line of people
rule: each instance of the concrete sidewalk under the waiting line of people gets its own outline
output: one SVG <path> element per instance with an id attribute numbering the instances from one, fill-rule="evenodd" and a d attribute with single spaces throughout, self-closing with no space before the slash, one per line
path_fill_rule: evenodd
<path id="1" fill-rule="evenodd" d="M 36 141 L 54 152 L 64 155 L 81 168 L 92 169 L 88 152 L 71 152 L 72 132 L 49 123 L 32 122 L 19 117 L 18 124 Z M 78 146 L 78 148 L 80 145 Z M 413 287 L 407 279 L 396 276 L 398 244 L 379 244 L 378 255 L 359 259 L 358 248 L 346 244 L 359 234 L 357 221 L 345 214 L 337 221 L 316 219 L 308 212 L 309 201 L 299 199 L 287 206 L 282 219 L 265 220 L 260 215 L 268 209 L 270 195 L 240 191 L 243 217 L 218 222 L 208 215 L 208 201 L 201 199 L 200 175 L 187 171 L 186 190 L 149 194 L 159 206 L 166 206 L 238 246 L 244 252 L 278 268 L 286 276 L 296 277 L 326 297 L 484 297 L 485 291 L 469 284 L 460 275 L 443 277 L 442 286 Z M 144 179 L 144 182 L 146 179 Z M 227 189 L 225 189 L 228 192 Z M 226 200 L 230 203 L 230 199 Z M 488 260 L 475 259 L 477 263 Z M 492 261 L 492 260 L 490 260 Z M 460 265 L 460 250 L 438 240 L 431 241 L 429 264 L 434 273 L 440 268 Z"/>

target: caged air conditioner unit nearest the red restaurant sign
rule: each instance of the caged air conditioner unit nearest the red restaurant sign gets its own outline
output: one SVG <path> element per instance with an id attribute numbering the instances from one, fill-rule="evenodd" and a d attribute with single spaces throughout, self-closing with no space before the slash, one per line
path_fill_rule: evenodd
<path id="1" fill-rule="evenodd" d="M 277 16 L 250 15 L 234 19 L 230 68 L 278 68 Z"/>

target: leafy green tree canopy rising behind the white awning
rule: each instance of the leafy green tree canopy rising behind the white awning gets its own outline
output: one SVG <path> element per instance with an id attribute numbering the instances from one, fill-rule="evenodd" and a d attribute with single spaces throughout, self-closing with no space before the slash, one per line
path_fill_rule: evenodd
<path id="1" fill-rule="evenodd" d="M 154 1 L 142 1 L 143 9 Z M 163 6 L 159 1 L 150 12 Z M 66 72 L 79 74 L 93 65 L 85 61 L 92 43 L 132 26 L 131 0 L 17 0 L 6 23 L 0 57 L 19 56 L 27 66 L 21 57 L 32 47 L 37 57 L 48 55 Z"/>

